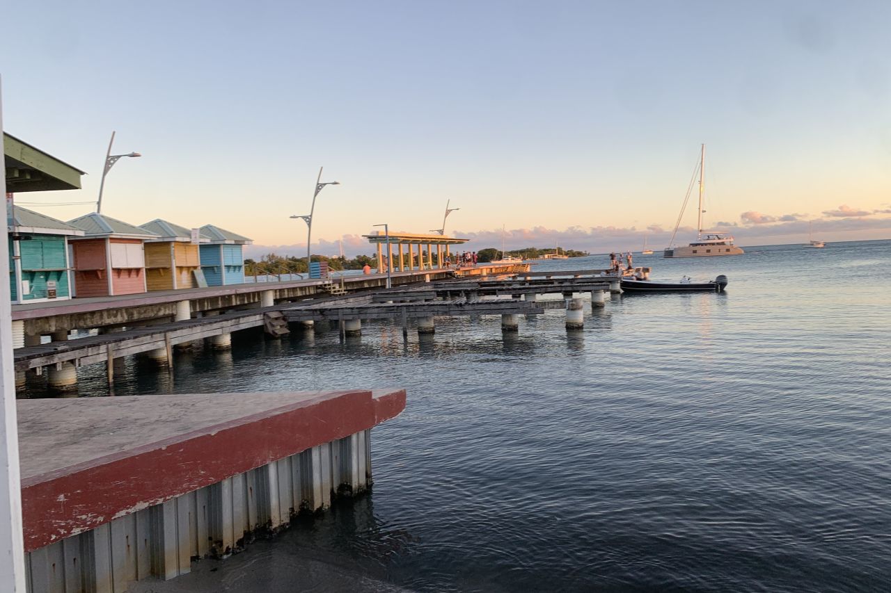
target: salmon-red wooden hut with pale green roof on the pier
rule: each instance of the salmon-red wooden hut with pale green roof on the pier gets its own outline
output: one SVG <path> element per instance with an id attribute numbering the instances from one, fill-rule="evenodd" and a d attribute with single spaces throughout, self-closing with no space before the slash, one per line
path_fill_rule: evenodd
<path id="1" fill-rule="evenodd" d="M 134 295 L 145 292 L 143 241 L 158 235 L 110 216 L 80 216 L 68 223 L 84 232 L 69 240 L 74 296 Z"/>

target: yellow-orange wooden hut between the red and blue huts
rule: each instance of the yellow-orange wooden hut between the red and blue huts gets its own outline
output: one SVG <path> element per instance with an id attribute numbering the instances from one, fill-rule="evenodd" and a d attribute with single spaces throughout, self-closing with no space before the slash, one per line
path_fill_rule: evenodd
<path id="1" fill-rule="evenodd" d="M 195 272 L 201 269 L 198 246 L 208 238 L 199 233 L 195 238 L 199 242 L 192 242 L 191 230 L 160 218 L 140 224 L 140 228 L 159 235 L 158 239 L 145 240 L 146 288 L 176 290 L 197 287 Z"/>

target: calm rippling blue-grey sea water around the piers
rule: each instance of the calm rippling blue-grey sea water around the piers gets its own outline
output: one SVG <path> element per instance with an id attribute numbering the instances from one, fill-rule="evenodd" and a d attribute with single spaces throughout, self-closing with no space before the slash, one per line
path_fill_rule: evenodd
<path id="1" fill-rule="evenodd" d="M 127 361 L 117 394 L 408 390 L 370 496 L 176 586 L 891 590 L 891 241 L 635 262 L 730 285 L 614 296 L 569 335 L 549 312 L 505 337 L 489 316 L 408 343 L 247 333 L 172 379 Z"/>

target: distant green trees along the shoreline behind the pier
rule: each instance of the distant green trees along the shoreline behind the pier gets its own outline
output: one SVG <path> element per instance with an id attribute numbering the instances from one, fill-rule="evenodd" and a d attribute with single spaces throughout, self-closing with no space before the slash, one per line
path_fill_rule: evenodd
<path id="1" fill-rule="evenodd" d="M 505 251 L 505 256 L 522 257 L 523 259 L 535 259 L 544 256 L 547 253 L 554 253 L 553 248 L 522 248 Z M 575 249 L 560 249 L 561 254 L 569 257 L 581 257 L 591 255 L 587 251 L 576 251 Z M 427 252 L 424 251 L 424 255 Z M 455 254 L 452 254 L 454 257 Z M 477 261 L 481 264 L 491 262 L 502 257 L 501 249 L 485 248 L 477 252 Z M 361 270 L 365 264 L 376 268 L 378 265 L 378 257 L 356 256 L 356 257 L 340 257 L 340 256 L 319 256 L 313 254 L 314 262 L 327 262 L 328 269 L 334 272 L 341 270 Z M 408 265 L 408 254 L 403 256 L 403 264 Z M 247 258 L 244 260 L 245 274 L 249 276 L 270 275 L 277 276 L 280 274 L 300 274 L 307 273 L 307 258 L 296 256 L 279 256 L 274 253 L 268 253 L 262 256 L 258 261 Z"/>

